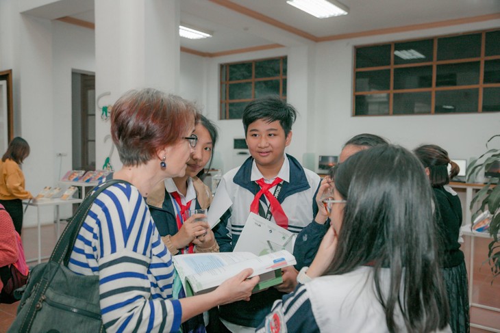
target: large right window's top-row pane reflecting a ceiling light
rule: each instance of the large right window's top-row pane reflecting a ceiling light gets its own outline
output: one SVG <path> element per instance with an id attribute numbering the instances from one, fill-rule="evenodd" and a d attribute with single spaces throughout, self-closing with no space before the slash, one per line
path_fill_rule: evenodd
<path id="1" fill-rule="evenodd" d="M 418 40 L 394 44 L 394 63 L 415 64 L 417 62 L 432 62 L 434 40 Z"/>

